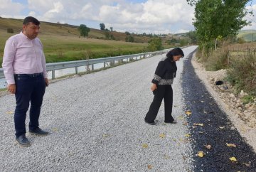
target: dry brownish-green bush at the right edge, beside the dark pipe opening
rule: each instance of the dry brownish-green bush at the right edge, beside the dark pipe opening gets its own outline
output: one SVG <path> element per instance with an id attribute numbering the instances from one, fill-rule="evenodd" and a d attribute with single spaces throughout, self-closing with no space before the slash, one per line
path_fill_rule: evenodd
<path id="1" fill-rule="evenodd" d="M 256 57 L 252 53 L 245 58 L 237 58 L 228 70 L 228 80 L 240 92 L 256 95 Z"/>

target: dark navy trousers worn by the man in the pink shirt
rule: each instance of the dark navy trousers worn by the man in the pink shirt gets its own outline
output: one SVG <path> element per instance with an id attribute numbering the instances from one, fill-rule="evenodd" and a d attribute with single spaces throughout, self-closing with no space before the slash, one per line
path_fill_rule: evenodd
<path id="1" fill-rule="evenodd" d="M 14 114 L 14 124 L 16 137 L 26 133 L 26 112 L 28 111 L 29 103 L 31 104 L 29 111 L 29 129 L 33 130 L 39 126 L 39 115 L 43 102 L 43 95 L 46 90 L 46 82 L 43 74 L 37 76 L 31 75 L 16 75 L 16 109 Z"/>

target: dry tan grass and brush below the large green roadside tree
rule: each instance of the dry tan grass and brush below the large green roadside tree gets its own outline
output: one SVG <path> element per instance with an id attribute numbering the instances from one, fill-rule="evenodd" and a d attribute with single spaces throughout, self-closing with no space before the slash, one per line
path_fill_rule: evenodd
<path id="1" fill-rule="evenodd" d="M 256 96 L 256 43 L 223 42 L 216 52 L 210 52 L 204 55 L 206 70 L 227 69 L 226 80 L 234 86 L 235 94 L 244 90 L 249 97 L 245 97 L 243 102 L 250 102 L 251 97 Z"/>

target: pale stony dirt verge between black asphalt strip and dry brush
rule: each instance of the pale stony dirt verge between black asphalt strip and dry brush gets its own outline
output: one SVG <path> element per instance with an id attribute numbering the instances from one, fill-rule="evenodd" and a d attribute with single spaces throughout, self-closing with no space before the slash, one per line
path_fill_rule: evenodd
<path id="1" fill-rule="evenodd" d="M 196 75 L 203 81 L 204 85 L 218 102 L 223 111 L 228 114 L 229 119 L 238 129 L 241 136 L 247 140 L 256 152 L 256 99 L 254 103 L 242 104 L 241 97 L 246 93 L 233 94 L 233 88 L 228 83 L 216 85 L 218 80 L 226 76 L 226 70 L 206 71 L 201 63 L 198 63 L 195 54 L 192 58 L 192 65 Z"/>

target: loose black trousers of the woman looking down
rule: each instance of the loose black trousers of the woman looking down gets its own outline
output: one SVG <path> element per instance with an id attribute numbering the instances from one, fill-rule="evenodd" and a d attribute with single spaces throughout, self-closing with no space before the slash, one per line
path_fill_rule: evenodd
<path id="1" fill-rule="evenodd" d="M 154 100 L 149 107 L 149 112 L 146 113 L 145 121 L 154 122 L 157 113 L 164 99 L 164 122 L 173 122 L 174 118 L 171 116 L 173 106 L 173 90 L 171 85 L 158 85 L 154 90 Z"/>

